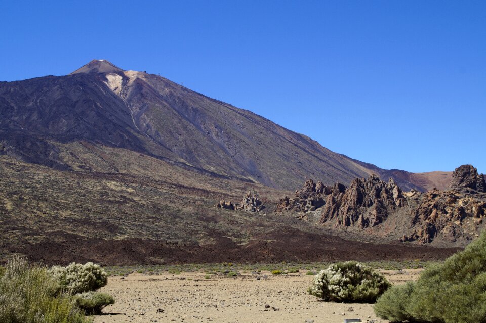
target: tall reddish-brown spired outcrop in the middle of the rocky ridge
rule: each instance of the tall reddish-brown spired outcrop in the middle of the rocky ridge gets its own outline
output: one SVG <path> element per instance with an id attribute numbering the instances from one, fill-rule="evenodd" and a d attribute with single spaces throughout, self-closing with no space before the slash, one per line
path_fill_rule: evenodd
<path id="1" fill-rule="evenodd" d="M 337 225 L 366 228 L 380 224 L 405 205 L 406 199 L 392 178 L 386 183 L 373 174 L 353 180 L 344 194 L 329 196 L 320 223 L 336 218 Z"/>

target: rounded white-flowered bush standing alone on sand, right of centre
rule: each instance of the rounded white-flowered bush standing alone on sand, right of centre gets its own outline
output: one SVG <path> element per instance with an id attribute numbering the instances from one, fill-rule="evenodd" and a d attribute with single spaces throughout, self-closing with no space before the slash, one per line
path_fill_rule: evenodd
<path id="1" fill-rule="evenodd" d="M 382 274 L 358 262 L 347 261 L 316 274 L 308 293 L 325 301 L 373 303 L 389 287 Z"/>

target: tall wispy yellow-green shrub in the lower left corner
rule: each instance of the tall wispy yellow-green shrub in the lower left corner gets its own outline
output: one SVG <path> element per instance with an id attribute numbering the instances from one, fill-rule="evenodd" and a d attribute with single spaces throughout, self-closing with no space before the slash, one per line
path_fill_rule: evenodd
<path id="1" fill-rule="evenodd" d="M 58 282 L 44 266 L 26 258 L 8 261 L 0 277 L 0 322 L 87 323 L 72 296 L 59 292 Z"/>

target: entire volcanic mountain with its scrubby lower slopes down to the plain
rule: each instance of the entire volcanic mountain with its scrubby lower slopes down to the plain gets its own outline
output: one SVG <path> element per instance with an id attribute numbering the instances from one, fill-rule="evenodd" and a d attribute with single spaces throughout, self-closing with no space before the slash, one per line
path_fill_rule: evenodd
<path id="1" fill-rule="evenodd" d="M 0 82 L 0 113 L 0 262 L 430 260 L 458 250 L 274 212 L 308 178 L 326 192 L 339 181 L 343 193 L 370 175 L 421 191 L 448 180 L 334 153 L 158 75 L 94 60 Z"/>

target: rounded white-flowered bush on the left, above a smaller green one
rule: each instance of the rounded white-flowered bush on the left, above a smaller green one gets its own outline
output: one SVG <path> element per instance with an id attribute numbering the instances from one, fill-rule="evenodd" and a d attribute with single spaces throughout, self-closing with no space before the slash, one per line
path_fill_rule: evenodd
<path id="1" fill-rule="evenodd" d="M 72 294 L 96 291 L 108 282 L 106 271 L 92 262 L 84 265 L 73 262 L 67 267 L 53 266 L 49 273 Z"/>

